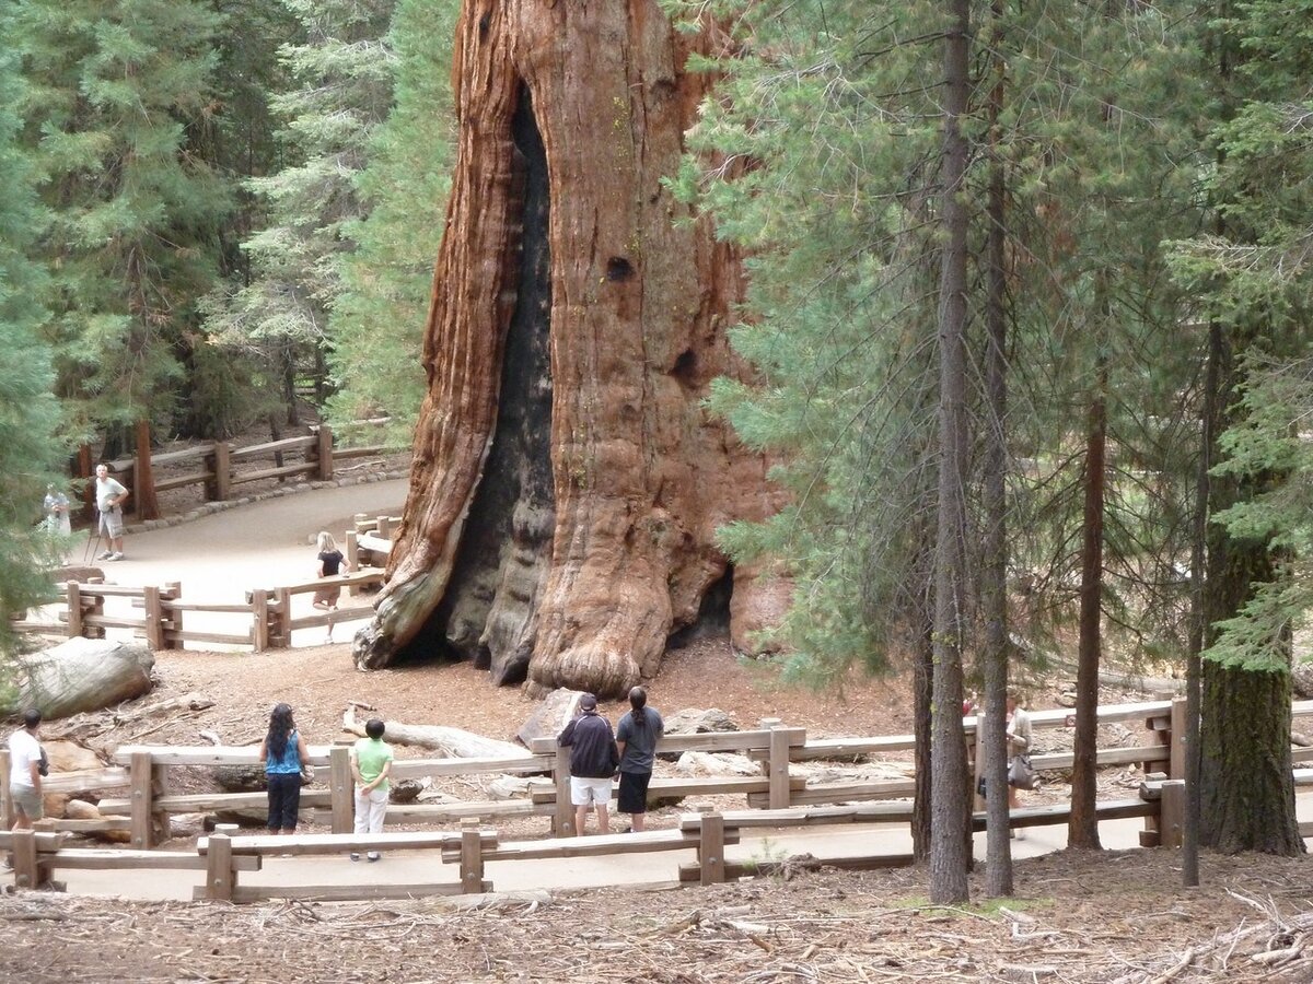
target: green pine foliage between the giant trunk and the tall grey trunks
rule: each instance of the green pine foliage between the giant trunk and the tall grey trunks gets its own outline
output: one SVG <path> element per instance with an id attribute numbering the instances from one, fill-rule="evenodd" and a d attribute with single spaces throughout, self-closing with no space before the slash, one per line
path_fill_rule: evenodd
<path id="1" fill-rule="evenodd" d="M 792 670 L 825 682 L 885 668 L 923 593 L 910 572 L 935 509 L 939 21 L 923 4 L 735 13 L 743 47 L 706 66 L 723 83 L 674 184 L 751 257 L 731 344 L 756 377 L 720 380 L 710 405 L 779 459 L 793 505 L 721 541 L 737 562 L 786 564 Z"/>

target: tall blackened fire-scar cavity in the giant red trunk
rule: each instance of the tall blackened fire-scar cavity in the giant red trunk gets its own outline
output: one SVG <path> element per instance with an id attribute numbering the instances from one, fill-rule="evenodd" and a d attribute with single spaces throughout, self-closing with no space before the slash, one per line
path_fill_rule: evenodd
<path id="1" fill-rule="evenodd" d="M 507 638 L 494 605 L 525 609 L 546 569 L 555 526 L 551 484 L 551 277 L 548 157 L 529 89 L 511 122 L 521 228 L 515 310 L 502 357 L 496 432 L 470 505 L 446 594 L 399 659 L 474 660 L 499 684 L 523 682 L 530 649 Z M 492 298 L 487 303 L 494 303 Z M 540 563 L 527 563 L 537 558 Z M 516 619 L 506 619 L 515 623 Z"/>

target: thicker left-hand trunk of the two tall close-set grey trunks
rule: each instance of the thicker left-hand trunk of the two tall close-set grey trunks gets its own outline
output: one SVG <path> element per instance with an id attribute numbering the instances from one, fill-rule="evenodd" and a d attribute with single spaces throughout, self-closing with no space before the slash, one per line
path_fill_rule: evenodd
<path id="1" fill-rule="evenodd" d="M 961 199 L 969 147 L 962 118 L 970 93 L 970 4 L 951 0 L 944 41 L 944 255 L 940 276 L 939 530 L 935 539 L 935 716 L 931 779 L 931 901 L 969 897 L 970 804 L 962 732 L 966 628 L 966 240 Z"/>

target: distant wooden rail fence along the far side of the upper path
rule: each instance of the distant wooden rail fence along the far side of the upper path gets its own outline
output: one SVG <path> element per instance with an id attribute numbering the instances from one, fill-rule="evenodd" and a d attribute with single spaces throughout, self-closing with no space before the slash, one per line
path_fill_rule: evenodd
<path id="1" fill-rule="evenodd" d="M 344 447 L 336 443 L 332 428 L 327 424 L 311 426 L 310 434 L 281 441 L 240 447 L 227 441 L 214 441 L 164 454 L 151 454 L 150 432 L 139 428 L 137 449 L 137 454 L 131 458 L 116 458 L 106 464 L 113 478 L 131 493 L 123 508 L 138 520 L 158 520 L 156 495 L 168 489 L 202 485 L 206 501 L 223 502 L 232 497 L 235 488 L 251 482 L 290 478 L 327 482 L 332 479 L 337 462 L 383 454 L 387 450 L 385 445 Z M 75 461 L 72 478 L 91 479 L 95 475 L 95 463 L 88 446 L 79 449 Z M 172 471 L 177 466 L 190 467 L 183 474 L 155 478 L 158 468 L 167 467 Z M 83 492 L 83 518 L 93 517 L 95 505 L 95 483 L 87 482 Z"/>

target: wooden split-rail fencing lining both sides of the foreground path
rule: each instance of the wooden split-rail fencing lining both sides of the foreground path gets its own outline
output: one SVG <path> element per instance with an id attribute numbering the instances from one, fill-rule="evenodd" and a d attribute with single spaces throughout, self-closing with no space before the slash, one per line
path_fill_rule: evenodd
<path id="1" fill-rule="evenodd" d="M 1297 719 L 1313 718 L 1313 701 L 1293 706 Z M 1184 782 L 1180 768 L 1179 726 L 1183 701 L 1161 701 L 1117 705 L 1099 708 L 1100 723 L 1141 723 L 1153 740 L 1144 745 L 1099 749 L 1102 766 L 1138 764 L 1144 770 L 1137 796 L 1106 800 L 1098 806 L 1100 819 L 1141 817 L 1141 846 L 1174 848 L 1180 844 L 1184 811 Z M 1066 711 L 1037 711 L 1032 715 L 1036 731 L 1065 727 Z M 914 748 L 907 735 L 860 739 L 807 740 L 802 728 L 790 728 L 775 720 L 763 722 L 754 731 L 668 736 L 658 753 L 687 750 L 739 752 L 759 761 L 759 775 L 729 777 L 655 777 L 649 790 L 651 800 L 701 798 L 737 794 L 746 798 L 748 810 L 721 811 L 709 807 L 681 815 L 672 829 L 647 830 L 641 834 L 604 834 L 571 837 L 574 808 L 569 803 L 569 749 L 559 749 L 551 739 L 534 740 L 523 756 L 504 758 L 399 758 L 393 774 L 397 779 L 423 775 L 481 775 L 490 773 L 528 774 L 529 795 L 513 800 L 445 802 L 390 804 L 387 824 L 407 827 L 424 824 L 457 824 L 458 829 L 439 832 L 357 836 L 352 829 L 352 782 L 345 745 L 311 747 L 311 761 L 326 768 L 324 775 L 302 792 L 302 807 L 315 820 L 326 823 L 331 833 L 295 834 L 291 837 L 239 836 L 235 829 L 219 830 L 201 838 L 192 851 L 151 850 L 165 836 L 168 815 L 176 812 L 255 811 L 265 807 L 264 792 L 189 794 L 168 792 L 168 770 L 176 766 L 259 765 L 255 748 L 169 748 L 123 747 L 114 756 L 114 765 L 88 773 L 51 775 L 47 791 L 126 790 L 119 799 L 101 799 L 100 820 L 47 820 L 39 830 L 0 834 L 0 849 L 14 855 L 16 884 L 39 884 L 59 869 L 188 869 L 205 871 L 206 880 L 196 888 L 198 899 L 256 901 L 268 897 L 305 899 L 374 899 L 402 897 L 418 893 L 461 893 L 488 891 L 491 882 L 484 866 L 490 862 L 599 857 L 651 851 L 693 850 L 696 861 L 680 863 L 680 882 L 712 883 L 763 870 L 760 862 L 730 862 L 725 846 L 739 841 L 744 830 L 788 829 L 806 825 L 834 824 L 910 824 L 913 806 L 909 800 L 914 778 L 873 779 L 865 782 L 831 782 L 806 786 L 801 777 L 790 777 L 789 762 L 852 758 L 882 753 L 901 753 Z M 976 719 L 964 720 L 968 743 L 976 731 Z M 1296 764 L 1313 761 L 1313 749 L 1296 749 Z M 0 753 L 0 770 L 8 768 L 8 753 Z M 1039 753 L 1032 764 L 1040 771 L 1071 768 L 1070 753 Z M 1313 786 L 1313 769 L 1297 768 L 1295 781 Z M 0 812 L 8 825 L 12 807 L 8 790 L 0 789 Z M 551 833 L 546 840 L 502 841 L 494 828 L 483 824 L 508 817 L 541 815 L 550 819 Z M 1066 824 L 1066 803 L 1025 807 L 1012 811 L 1010 827 L 1043 827 Z M 974 813 L 976 829 L 983 829 L 985 813 Z M 80 833 L 126 830 L 130 849 L 70 848 L 68 838 Z M 1313 823 L 1301 824 L 1304 836 L 1313 836 Z M 272 854 L 322 855 L 365 850 L 441 851 L 446 863 L 460 866 L 453 882 L 435 884 L 351 884 L 351 886 L 240 886 L 246 871 L 259 871 L 263 858 Z M 843 867 L 880 867 L 910 863 L 909 855 L 853 855 L 826 858 L 825 863 Z M 768 865 L 765 866 L 768 867 Z"/>

